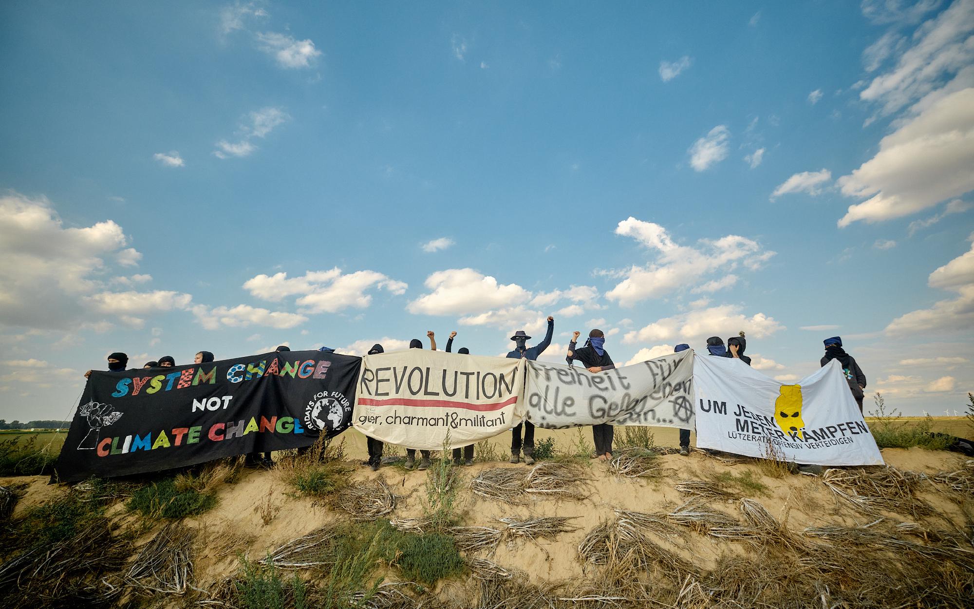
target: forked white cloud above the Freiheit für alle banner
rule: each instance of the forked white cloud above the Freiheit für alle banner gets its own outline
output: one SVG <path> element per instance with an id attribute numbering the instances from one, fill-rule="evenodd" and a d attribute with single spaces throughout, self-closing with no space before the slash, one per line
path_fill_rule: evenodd
<path id="1" fill-rule="evenodd" d="M 646 266 L 633 265 L 618 274 L 613 273 L 624 279 L 607 292 L 606 297 L 624 307 L 693 285 L 696 280 L 717 271 L 729 271 L 738 265 L 757 269 L 774 255 L 757 242 L 737 235 L 727 235 L 717 241 L 701 240 L 699 247 L 680 246 L 662 226 L 632 216 L 618 223 L 616 234 L 632 237 L 643 246 L 656 250 L 655 262 Z M 712 286 L 732 281 L 725 277 Z"/>

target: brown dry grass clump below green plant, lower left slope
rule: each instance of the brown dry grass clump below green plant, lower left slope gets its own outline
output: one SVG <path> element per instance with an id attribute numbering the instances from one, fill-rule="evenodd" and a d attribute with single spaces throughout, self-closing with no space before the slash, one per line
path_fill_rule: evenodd
<path id="1" fill-rule="evenodd" d="M 193 542 L 197 531 L 173 522 L 135 556 L 127 579 L 142 590 L 184 594 L 193 582 Z"/>

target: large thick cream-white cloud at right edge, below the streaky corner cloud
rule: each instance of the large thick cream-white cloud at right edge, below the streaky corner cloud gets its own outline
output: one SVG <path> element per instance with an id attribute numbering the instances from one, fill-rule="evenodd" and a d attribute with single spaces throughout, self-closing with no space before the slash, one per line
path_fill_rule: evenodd
<path id="1" fill-rule="evenodd" d="M 974 189 L 974 88 L 946 95 L 880 140 L 880 151 L 839 178 L 849 206 L 839 220 L 879 222 L 916 213 Z"/>

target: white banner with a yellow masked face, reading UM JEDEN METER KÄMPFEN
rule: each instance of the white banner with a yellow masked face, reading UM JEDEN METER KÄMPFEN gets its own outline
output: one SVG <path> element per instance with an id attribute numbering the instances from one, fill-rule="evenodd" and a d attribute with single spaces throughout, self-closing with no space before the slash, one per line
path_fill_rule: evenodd
<path id="1" fill-rule="evenodd" d="M 882 465 L 837 360 L 794 385 L 732 358 L 696 356 L 696 445 L 814 465 Z"/>

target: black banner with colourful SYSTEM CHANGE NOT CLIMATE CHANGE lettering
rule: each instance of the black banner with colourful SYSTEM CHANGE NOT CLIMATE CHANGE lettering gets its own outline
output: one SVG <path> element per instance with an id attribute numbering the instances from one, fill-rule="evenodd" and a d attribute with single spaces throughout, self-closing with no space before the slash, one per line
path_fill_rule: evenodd
<path id="1" fill-rule="evenodd" d="M 290 351 L 92 372 L 57 459 L 61 481 L 309 446 L 349 427 L 361 360 Z"/>

